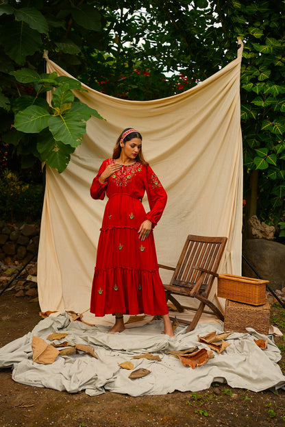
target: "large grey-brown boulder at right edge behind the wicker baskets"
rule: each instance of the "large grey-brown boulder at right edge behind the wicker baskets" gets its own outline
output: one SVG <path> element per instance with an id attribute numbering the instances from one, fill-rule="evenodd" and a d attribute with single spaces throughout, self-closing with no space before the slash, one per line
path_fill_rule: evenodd
<path id="1" fill-rule="evenodd" d="M 262 279 L 269 280 L 269 286 L 273 291 L 284 286 L 285 245 L 266 239 L 249 239 L 245 241 L 243 255 Z M 257 277 L 244 260 L 243 276 Z"/>

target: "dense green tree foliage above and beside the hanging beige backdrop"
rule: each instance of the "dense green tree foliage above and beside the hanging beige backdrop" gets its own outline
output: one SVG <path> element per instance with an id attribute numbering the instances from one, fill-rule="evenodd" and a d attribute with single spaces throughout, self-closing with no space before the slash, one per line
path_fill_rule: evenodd
<path id="1" fill-rule="evenodd" d="M 62 170 L 75 148 L 56 145 L 55 118 L 49 117 L 51 126 L 40 130 L 46 144 L 39 143 L 43 133 L 39 140 L 38 133 L 26 133 L 17 121 L 11 129 L 14 113 L 27 108 L 23 99 L 36 98 L 33 106 L 42 107 L 44 99 L 39 99 L 48 83 L 53 86 L 42 82 L 50 78 L 42 75 L 44 49 L 88 86 L 145 100 L 174 95 L 205 80 L 236 57 L 240 36 L 245 43 L 241 119 L 247 214 L 257 209 L 262 219 L 280 221 L 285 196 L 284 12 L 284 1 L 263 0 L 0 1 L 0 132 L 8 166 L 11 151 L 28 167 L 55 148 L 57 158 L 69 150 L 58 161 Z M 36 73 L 36 79 L 15 80 L 25 73 L 18 71 L 23 68 Z M 59 91 L 59 86 L 58 81 L 53 87 Z M 75 101 L 72 105 L 78 107 Z M 54 110 L 48 114 L 56 117 Z"/>

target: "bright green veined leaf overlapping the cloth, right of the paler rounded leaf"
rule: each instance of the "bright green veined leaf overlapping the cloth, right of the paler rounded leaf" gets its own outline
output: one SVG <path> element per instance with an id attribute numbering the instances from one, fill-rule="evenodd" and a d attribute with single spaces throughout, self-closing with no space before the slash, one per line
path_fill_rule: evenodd
<path id="1" fill-rule="evenodd" d="M 86 123 L 84 120 L 78 119 L 77 112 L 67 111 L 61 116 L 49 118 L 49 130 L 55 141 L 62 141 L 66 145 L 77 147 L 82 143 L 82 138 L 86 133 Z"/>

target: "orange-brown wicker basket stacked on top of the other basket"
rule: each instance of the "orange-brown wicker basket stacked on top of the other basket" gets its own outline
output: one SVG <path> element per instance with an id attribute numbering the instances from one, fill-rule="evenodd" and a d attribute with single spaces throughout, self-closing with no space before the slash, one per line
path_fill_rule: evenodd
<path id="1" fill-rule="evenodd" d="M 269 280 L 219 274 L 217 295 L 227 300 L 261 306 L 267 300 L 267 283 Z"/>

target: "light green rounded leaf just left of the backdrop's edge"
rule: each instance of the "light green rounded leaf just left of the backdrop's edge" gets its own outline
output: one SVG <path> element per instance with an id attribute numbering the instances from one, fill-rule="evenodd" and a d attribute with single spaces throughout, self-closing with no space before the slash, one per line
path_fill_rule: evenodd
<path id="1" fill-rule="evenodd" d="M 30 106 L 15 115 L 14 127 L 22 132 L 37 134 L 47 127 L 49 118 L 51 115 L 45 108 Z"/>

